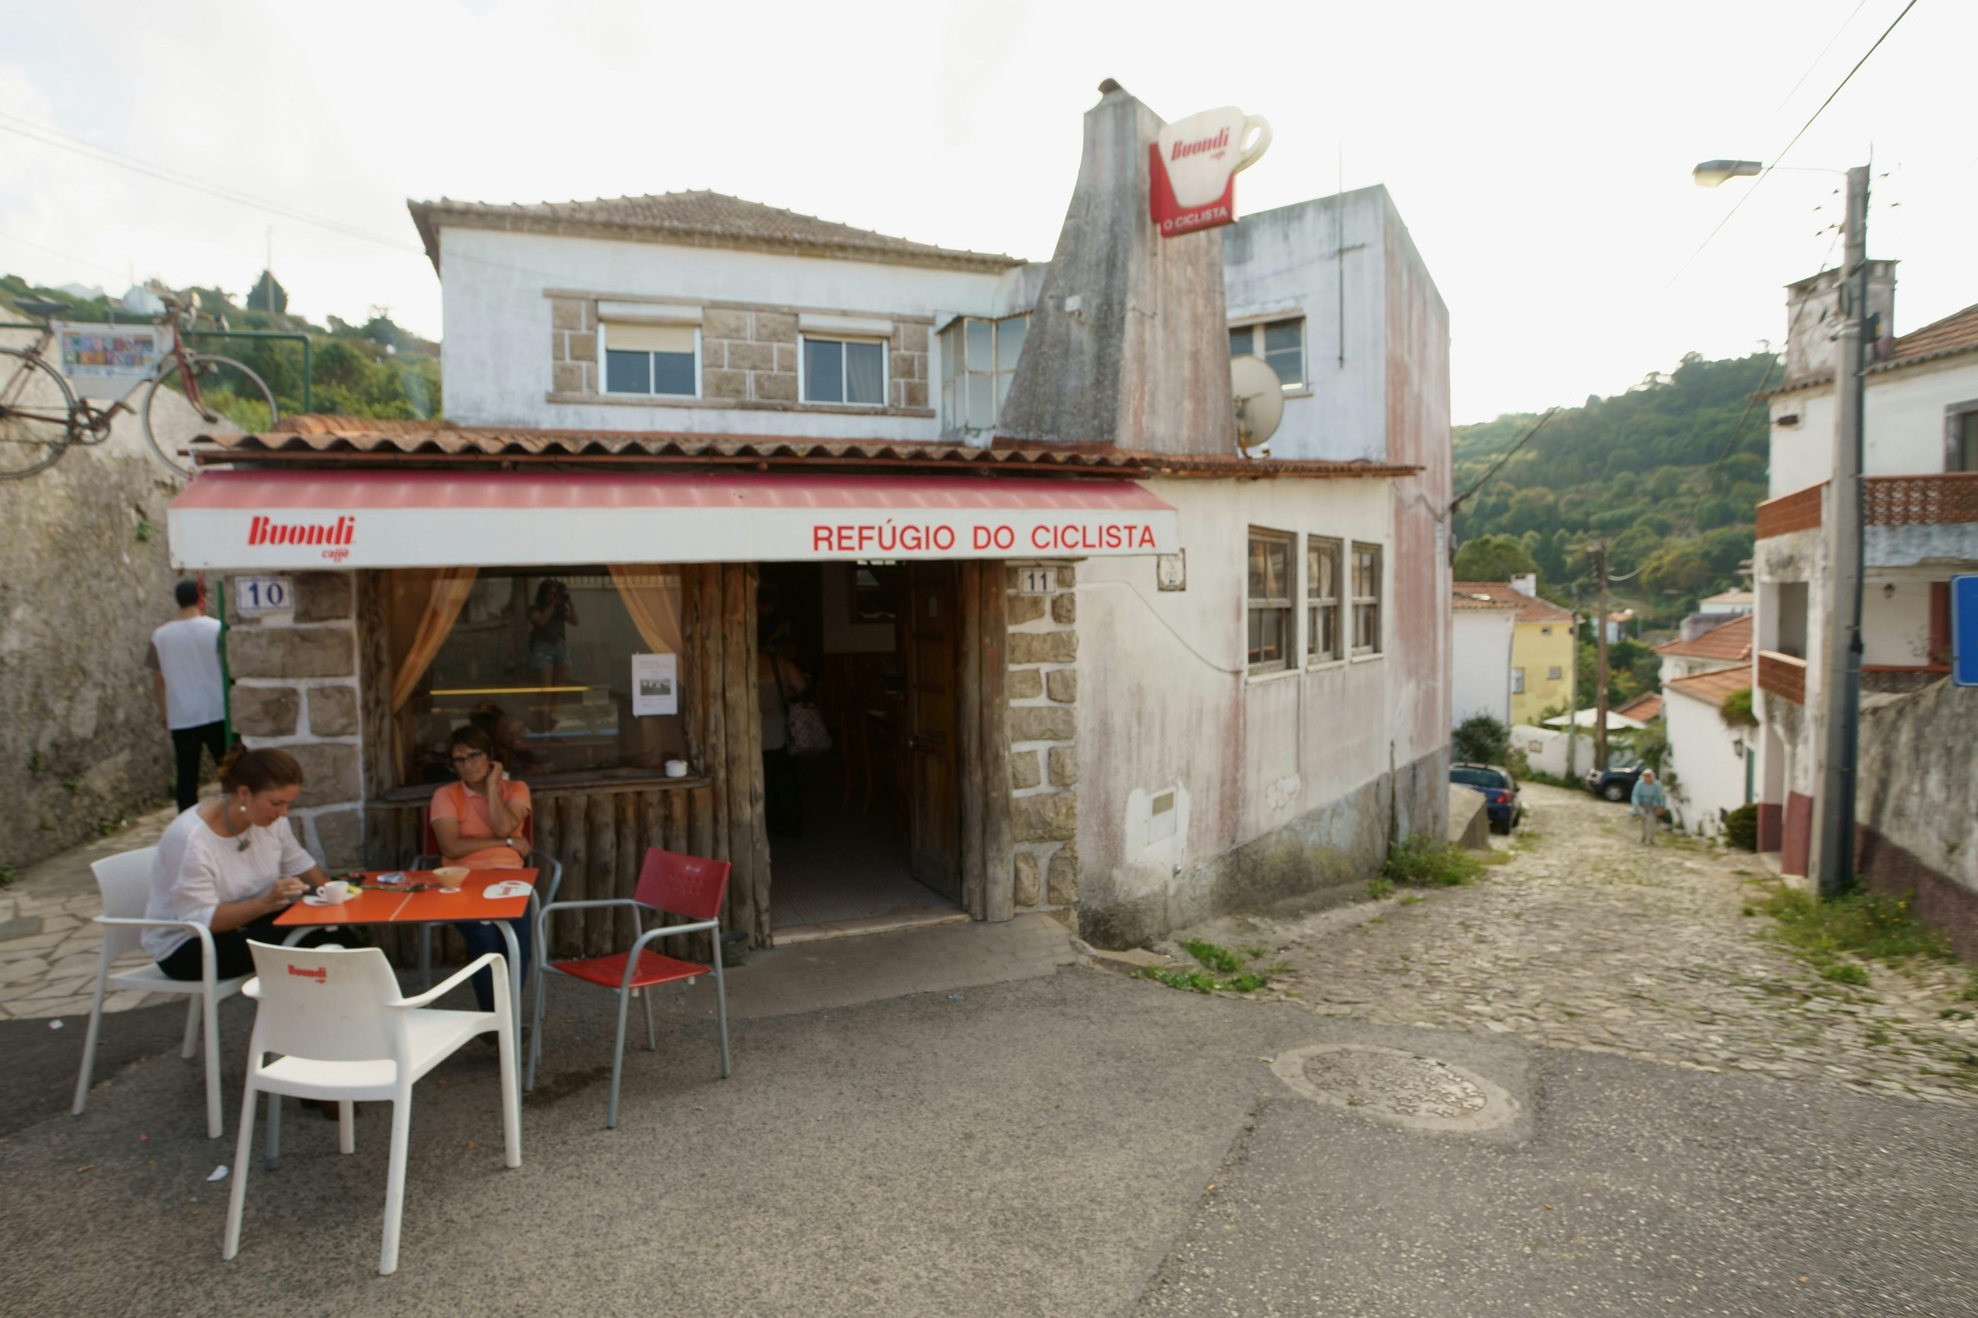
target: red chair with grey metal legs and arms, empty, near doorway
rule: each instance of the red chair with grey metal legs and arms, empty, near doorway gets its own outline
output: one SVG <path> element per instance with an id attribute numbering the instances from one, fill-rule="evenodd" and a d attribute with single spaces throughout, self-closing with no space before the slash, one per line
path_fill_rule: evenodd
<path id="1" fill-rule="evenodd" d="M 550 913 L 582 911 L 585 907 L 631 907 L 637 941 L 629 952 L 609 956 L 584 956 L 576 960 L 548 960 L 546 950 L 536 952 L 540 970 L 568 974 L 609 988 L 619 998 L 617 1041 L 611 1045 L 611 1107 L 605 1112 L 605 1128 L 617 1126 L 619 1073 L 625 1069 L 625 1010 L 631 1006 L 631 990 L 657 988 L 659 984 L 692 984 L 702 974 L 714 976 L 714 1018 L 722 1037 L 722 1079 L 728 1079 L 728 986 L 722 982 L 722 897 L 728 893 L 728 862 L 702 860 L 700 856 L 680 856 L 647 848 L 645 865 L 639 867 L 639 887 L 631 897 L 605 901 L 552 901 L 536 917 L 536 947 L 550 947 Z M 661 925 L 645 929 L 645 911 L 655 915 L 684 915 L 686 925 Z M 647 948 L 655 939 L 671 939 L 682 933 L 708 933 L 714 947 L 714 964 L 702 966 L 694 960 L 678 960 Z M 528 1079 L 524 1087 L 536 1085 L 536 1061 L 542 1057 L 542 1002 L 548 974 L 536 974 L 536 1004 L 532 1012 L 528 1043 Z M 639 994 L 645 1004 L 645 1047 L 659 1047 L 653 1033 L 653 994 Z"/>

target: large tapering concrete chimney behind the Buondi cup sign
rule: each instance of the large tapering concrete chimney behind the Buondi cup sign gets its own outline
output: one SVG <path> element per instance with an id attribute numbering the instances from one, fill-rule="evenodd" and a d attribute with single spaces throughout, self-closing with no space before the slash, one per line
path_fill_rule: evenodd
<path id="1" fill-rule="evenodd" d="M 1161 119 L 1106 79 L 997 439 L 1234 454 L 1222 231 L 1161 237 Z"/>

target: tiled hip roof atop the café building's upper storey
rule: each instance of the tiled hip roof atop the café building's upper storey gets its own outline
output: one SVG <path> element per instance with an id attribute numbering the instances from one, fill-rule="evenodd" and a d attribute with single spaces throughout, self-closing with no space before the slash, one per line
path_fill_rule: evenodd
<path id="1" fill-rule="evenodd" d="M 934 265 L 997 275 L 1021 257 L 991 251 L 957 251 L 904 237 L 854 229 L 817 215 L 744 202 L 724 192 L 655 192 L 643 198 L 597 198 L 593 202 L 407 202 L 419 227 L 425 255 L 439 269 L 439 229 L 510 229 L 522 233 L 576 233 L 621 237 L 692 247 L 746 247 L 793 257 L 835 257 L 884 265 Z"/>

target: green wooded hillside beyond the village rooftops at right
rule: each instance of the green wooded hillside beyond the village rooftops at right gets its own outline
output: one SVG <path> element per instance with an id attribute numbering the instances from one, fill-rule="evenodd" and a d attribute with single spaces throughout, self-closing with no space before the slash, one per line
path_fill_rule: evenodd
<path id="1" fill-rule="evenodd" d="M 1743 583 L 1737 569 L 1751 557 L 1753 510 L 1766 496 L 1770 429 L 1751 395 L 1772 370 L 1772 354 L 1725 362 L 1691 354 L 1673 373 L 1561 409 L 1464 502 L 1458 545 L 1513 537 L 1547 595 L 1571 601 L 1580 585 L 1590 603 L 1584 547 L 1604 539 L 1610 575 L 1640 571 L 1612 587 L 1616 607 L 1673 624 L 1703 595 Z M 1456 490 L 1476 484 L 1537 421 L 1509 415 L 1456 427 Z"/>

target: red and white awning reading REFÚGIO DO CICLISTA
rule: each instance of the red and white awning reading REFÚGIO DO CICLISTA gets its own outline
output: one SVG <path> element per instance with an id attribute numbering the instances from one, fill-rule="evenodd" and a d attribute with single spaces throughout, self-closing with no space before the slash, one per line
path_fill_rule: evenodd
<path id="1" fill-rule="evenodd" d="M 202 472 L 188 569 L 750 563 L 1175 553 L 1129 480 L 688 472 Z"/>

